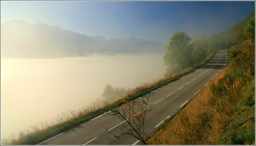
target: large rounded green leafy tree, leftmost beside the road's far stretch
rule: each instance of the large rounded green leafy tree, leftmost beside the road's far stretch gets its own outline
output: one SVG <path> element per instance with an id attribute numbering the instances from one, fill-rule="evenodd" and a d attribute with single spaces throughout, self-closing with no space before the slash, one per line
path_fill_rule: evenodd
<path id="1" fill-rule="evenodd" d="M 167 51 L 163 57 L 167 73 L 182 70 L 191 65 L 192 39 L 185 32 L 176 32 L 170 38 Z"/>

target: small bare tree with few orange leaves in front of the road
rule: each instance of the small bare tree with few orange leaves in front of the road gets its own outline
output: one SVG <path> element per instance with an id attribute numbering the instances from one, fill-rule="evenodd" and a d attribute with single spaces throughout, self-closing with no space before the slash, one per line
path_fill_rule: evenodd
<path id="1" fill-rule="evenodd" d="M 148 101 L 153 93 L 145 93 L 142 87 L 136 87 L 136 92 L 142 94 L 136 101 L 132 100 L 135 92 L 129 90 L 127 98 L 122 101 L 122 105 L 111 109 L 111 112 L 107 113 L 126 121 L 126 124 L 122 124 L 121 131 L 119 132 L 120 135 L 115 135 L 109 131 L 115 137 L 115 140 L 108 139 L 114 142 L 114 144 L 121 136 L 128 134 L 146 145 L 144 141 L 146 135 L 144 132 L 145 116 L 151 111 L 151 108 L 148 107 Z"/>

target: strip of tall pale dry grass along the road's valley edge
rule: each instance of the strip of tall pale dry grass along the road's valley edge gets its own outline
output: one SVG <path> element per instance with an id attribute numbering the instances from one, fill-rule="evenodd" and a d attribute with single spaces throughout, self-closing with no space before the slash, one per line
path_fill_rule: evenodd
<path id="1" fill-rule="evenodd" d="M 130 93 L 133 93 L 134 98 L 138 98 L 137 96 L 139 96 L 141 89 L 143 89 L 142 91 L 144 91 L 144 92 L 151 92 L 161 86 L 167 85 L 168 83 L 174 81 L 175 79 L 178 79 L 181 76 L 184 76 L 187 73 L 190 73 L 190 72 L 196 70 L 197 68 L 200 68 L 200 66 L 207 63 L 213 57 L 213 54 L 208 56 L 206 58 L 206 60 L 203 60 L 197 66 L 188 67 L 184 70 L 181 70 L 181 71 L 178 71 L 178 72 L 175 72 L 172 74 L 165 74 L 162 79 L 154 79 L 154 80 L 152 80 L 152 82 L 142 83 L 141 85 L 135 87 L 134 89 L 131 89 Z M 138 90 L 138 89 L 140 89 L 140 90 Z M 70 127 L 73 127 L 72 126 L 73 121 L 75 121 L 75 120 L 82 121 L 82 120 L 79 120 L 79 118 L 86 117 L 87 114 L 91 114 L 92 112 L 97 111 L 97 110 L 102 111 L 105 109 L 105 107 L 112 106 L 113 104 L 121 103 L 121 101 L 127 97 L 128 97 L 127 93 L 122 93 L 113 102 L 104 102 L 103 105 L 97 105 L 97 103 L 92 102 L 89 106 L 87 106 L 84 109 L 71 111 L 71 116 L 67 116 L 63 113 L 57 114 L 57 116 L 54 119 L 50 119 L 49 121 L 44 120 L 44 121 L 40 122 L 39 124 L 30 126 L 26 130 L 20 131 L 19 133 L 13 133 L 10 136 L 8 136 L 7 138 L 1 137 L 1 144 L 2 145 L 11 145 L 13 143 L 20 143 L 20 141 L 24 141 L 24 140 L 28 139 L 28 137 L 33 137 L 38 133 L 45 133 L 46 130 L 54 129 L 59 126 L 61 127 L 62 125 L 64 125 L 64 129 L 66 129 L 66 128 L 68 128 L 67 126 L 65 126 L 65 124 L 67 124 L 67 123 L 69 123 L 69 124 L 71 123 Z M 94 117 L 95 116 L 98 116 L 98 115 L 94 114 Z M 76 124 L 74 124 L 74 125 L 76 125 Z M 53 133 L 58 133 L 58 130 Z M 49 136 L 43 135 L 43 137 L 49 137 Z M 43 140 L 44 139 L 43 137 L 42 138 L 39 137 L 39 139 Z M 24 142 L 24 143 L 27 143 L 27 142 Z M 29 143 L 36 144 L 37 142 L 36 142 L 36 140 L 32 140 Z"/>

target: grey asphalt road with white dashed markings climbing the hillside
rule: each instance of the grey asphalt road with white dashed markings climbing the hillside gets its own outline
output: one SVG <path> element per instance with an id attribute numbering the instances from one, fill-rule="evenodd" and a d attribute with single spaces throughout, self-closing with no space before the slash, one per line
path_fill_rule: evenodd
<path id="1" fill-rule="evenodd" d="M 159 130 L 164 119 L 170 119 L 194 98 L 226 66 L 228 59 L 225 50 L 218 51 L 205 66 L 186 76 L 177 79 L 155 91 L 148 105 L 152 110 L 148 113 L 144 124 L 147 136 Z M 119 133 L 121 125 L 126 124 L 112 115 L 100 115 L 90 121 L 65 131 L 46 140 L 39 145 L 112 145 L 111 133 Z M 111 133 L 109 133 L 110 131 Z M 131 136 L 119 139 L 117 145 L 135 145 L 138 140 Z"/>

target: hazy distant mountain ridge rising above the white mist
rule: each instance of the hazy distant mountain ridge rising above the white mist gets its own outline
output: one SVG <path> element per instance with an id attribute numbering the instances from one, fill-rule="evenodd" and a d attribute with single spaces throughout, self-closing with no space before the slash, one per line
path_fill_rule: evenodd
<path id="1" fill-rule="evenodd" d="M 89 54 L 164 54 L 166 45 L 139 38 L 87 36 L 60 26 L 11 20 L 1 25 L 1 57 L 56 58 Z"/>

